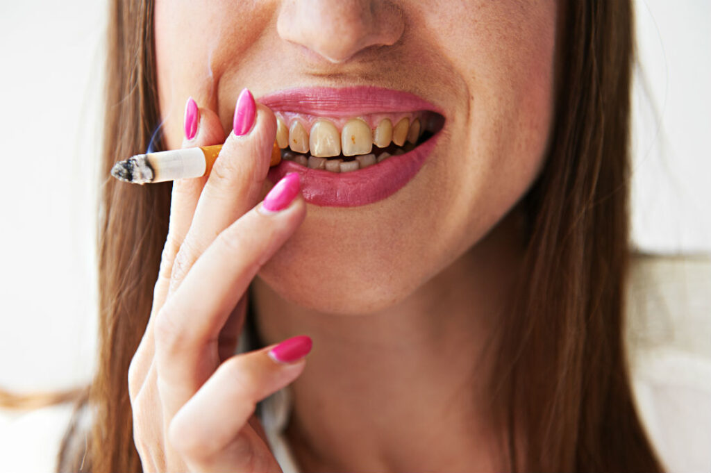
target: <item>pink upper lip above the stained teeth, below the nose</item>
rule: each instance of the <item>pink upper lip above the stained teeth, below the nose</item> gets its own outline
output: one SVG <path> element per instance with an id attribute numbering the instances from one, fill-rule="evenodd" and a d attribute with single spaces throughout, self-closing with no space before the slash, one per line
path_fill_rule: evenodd
<path id="1" fill-rule="evenodd" d="M 298 87 L 279 90 L 257 99 L 274 112 L 352 117 L 377 112 L 432 110 L 444 115 L 432 102 L 418 95 L 382 87 Z"/>

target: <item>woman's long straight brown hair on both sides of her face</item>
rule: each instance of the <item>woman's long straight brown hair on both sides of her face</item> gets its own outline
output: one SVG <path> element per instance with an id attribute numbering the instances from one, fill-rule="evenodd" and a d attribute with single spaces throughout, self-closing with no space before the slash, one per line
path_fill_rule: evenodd
<path id="1" fill-rule="evenodd" d="M 561 2 L 555 123 L 525 198 L 530 233 L 515 310 L 502 321 L 497 403 L 512 469 L 661 470 L 638 419 L 624 351 L 628 264 L 630 0 Z M 153 1 L 110 13 L 102 175 L 148 147 L 159 124 Z M 87 452 L 60 465 L 134 472 L 129 362 L 151 311 L 170 184 L 102 187 L 100 354 Z M 517 439 L 517 440 L 515 440 Z M 519 444 L 518 439 L 523 439 Z M 86 453 L 87 455 L 83 455 Z"/>

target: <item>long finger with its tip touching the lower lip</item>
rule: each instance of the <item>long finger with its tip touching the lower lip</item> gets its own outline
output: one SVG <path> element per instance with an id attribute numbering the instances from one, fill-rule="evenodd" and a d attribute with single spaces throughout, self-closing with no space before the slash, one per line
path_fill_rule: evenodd
<path id="1" fill-rule="evenodd" d="M 166 419 L 218 366 L 216 342 L 230 312 L 260 267 L 304 220 L 298 175 L 282 181 L 295 186 L 275 186 L 296 196 L 292 203 L 269 215 L 262 203 L 220 233 L 157 315 L 156 360 Z"/>

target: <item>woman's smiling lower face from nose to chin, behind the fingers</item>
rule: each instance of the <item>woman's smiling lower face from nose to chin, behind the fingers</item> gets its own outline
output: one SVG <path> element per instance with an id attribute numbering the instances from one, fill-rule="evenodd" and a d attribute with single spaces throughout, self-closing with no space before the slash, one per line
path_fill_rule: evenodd
<path id="1" fill-rule="evenodd" d="M 554 0 L 158 0 L 155 9 L 171 149 L 188 96 L 218 113 L 226 136 L 243 87 L 287 127 L 311 131 L 312 148 L 328 138 L 309 129 L 319 118 L 341 133 L 356 117 L 371 132 L 402 117 L 436 131 L 391 164 L 304 184 L 306 220 L 260 272 L 287 300 L 341 313 L 402 301 L 481 240 L 542 166 Z M 343 90 L 364 86 L 378 88 Z"/>

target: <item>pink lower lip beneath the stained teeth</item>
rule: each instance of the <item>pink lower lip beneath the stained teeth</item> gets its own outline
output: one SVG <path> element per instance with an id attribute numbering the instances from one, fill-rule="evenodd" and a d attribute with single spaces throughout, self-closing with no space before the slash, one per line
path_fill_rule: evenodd
<path id="1" fill-rule="evenodd" d="M 392 196 L 410 182 L 434 149 L 438 137 L 439 133 L 411 152 L 343 174 L 282 160 L 269 169 L 269 180 L 277 183 L 288 173 L 296 172 L 301 176 L 301 193 L 308 203 L 324 207 L 365 206 Z"/>

